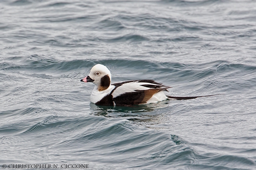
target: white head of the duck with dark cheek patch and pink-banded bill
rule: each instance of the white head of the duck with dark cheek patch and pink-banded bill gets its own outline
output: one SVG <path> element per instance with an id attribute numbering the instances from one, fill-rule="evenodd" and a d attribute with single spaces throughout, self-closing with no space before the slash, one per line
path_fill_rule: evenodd
<path id="1" fill-rule="evenodd" d="M 106 90 L 111 83 L 111 73 L 106 66 L 96 64 L 92 67 L 90 74 L 80 81 L 92 82 L 97 86 L 98 91 Z"/>

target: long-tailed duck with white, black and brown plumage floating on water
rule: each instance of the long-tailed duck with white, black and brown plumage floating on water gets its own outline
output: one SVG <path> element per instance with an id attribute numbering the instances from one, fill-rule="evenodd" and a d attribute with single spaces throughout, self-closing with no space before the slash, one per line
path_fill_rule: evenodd
<path id="1" fill-rule="evenodd" d="M 167 98 L 186 100 L 214 96 L 167 96 L 164 94 L 164 91 L 167 91 L 171 87 L 157 83 L 154 80 L 129 80 L 111 84 L 110 70 L 102 64 L 96 64 L 92 67 L 90 74 L 80 81 L 95 84 L 90 101 L 105 106 L 132 106 L 156 103 Z"/>

